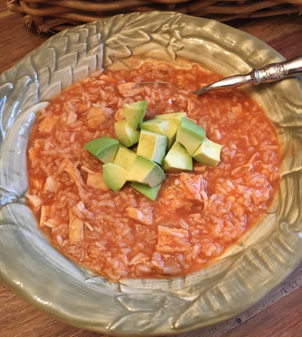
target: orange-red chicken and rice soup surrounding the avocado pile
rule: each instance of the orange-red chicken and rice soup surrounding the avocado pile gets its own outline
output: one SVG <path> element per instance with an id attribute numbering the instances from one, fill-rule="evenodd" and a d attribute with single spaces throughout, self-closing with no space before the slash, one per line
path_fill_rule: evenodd
<path id="1" fill-rule="evenodd" d="M 190 92 L 219 75 L 195 63 L 132 59 L 76 83 L 40 111 L 28 145 L 28 201 L 65 256 L 111 280 L 181 276 L 211 263 L 267 211 L 279 182 L 279 143 L 261 107 L 239 90 Z M 144 85 L 164 80 L 175 85 Z M 221 145 L 220 162 L 167 174 L 155 201 L 103 180 L 84 149 L 115 137 L 126 103 L 147 101 L 146 119 L 186 112 Z"/>

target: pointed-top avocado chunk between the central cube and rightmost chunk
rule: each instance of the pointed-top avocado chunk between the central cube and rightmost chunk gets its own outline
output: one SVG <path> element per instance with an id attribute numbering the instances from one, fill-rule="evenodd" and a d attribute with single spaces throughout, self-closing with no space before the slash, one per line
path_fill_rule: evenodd
<path id="1" fill-rule="evenodd" d="M 192 171 L 193 160 L 185 147 L 175 142 L 167 153 L 162 168 L 168 173 Z"/>

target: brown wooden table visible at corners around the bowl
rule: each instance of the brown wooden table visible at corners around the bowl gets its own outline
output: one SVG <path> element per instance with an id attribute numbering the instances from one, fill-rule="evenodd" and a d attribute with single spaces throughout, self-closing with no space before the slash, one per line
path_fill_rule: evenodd
<path id="1" fill-rule="evenodd" d="M 302 18 L 297 15 L 234 21 L 231 25 L 268 43 L 284 57 L 302 55 Z M 0 73 L 43 43 L 20 23 L 20 17 L 0 2 Z M 1 258 L 1 257 L 0 257 Z M 302 263 L 257 305 L 216 326 L 184 333 L 179 337 L 298 337 L 302 336 Z M 39 312 L 0 283 L 0 336 L 2 337 L 105 337 L 84 331 Z"/>

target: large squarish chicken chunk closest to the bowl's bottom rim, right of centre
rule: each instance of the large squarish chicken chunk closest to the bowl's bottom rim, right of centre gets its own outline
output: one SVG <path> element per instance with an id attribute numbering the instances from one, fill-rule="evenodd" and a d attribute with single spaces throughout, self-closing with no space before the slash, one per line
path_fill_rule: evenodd
<path id="1" fill-rule="evenodd" d="M 157 250 L 162 252 L 185 251 L 189 248 L 189 232 L 183 228 L 158 226 Z"/>

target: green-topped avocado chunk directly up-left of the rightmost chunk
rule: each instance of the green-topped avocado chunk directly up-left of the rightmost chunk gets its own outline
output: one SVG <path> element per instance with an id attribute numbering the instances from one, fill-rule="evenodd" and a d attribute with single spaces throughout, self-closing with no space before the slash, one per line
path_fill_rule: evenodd
<path id="1" fill-rule="evenodd" d="M 201 126 L 186 118 L 181 120 L 176 141 L 184 145 L 190 155 L 193 155 L 204 138 L 205 131 Z"/>

